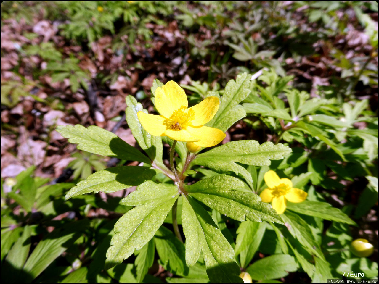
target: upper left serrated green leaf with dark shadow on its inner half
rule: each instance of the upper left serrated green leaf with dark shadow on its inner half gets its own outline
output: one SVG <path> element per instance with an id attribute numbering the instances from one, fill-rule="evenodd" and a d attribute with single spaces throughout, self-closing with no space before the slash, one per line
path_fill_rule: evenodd
<path id="1" fill-rule="evenodd" d="M 149 158 L 117 137 L 116 134 L 98 126 L 91 125 L 88 128 L 79 124 L 58 126 L 56 131 L 68 138 L 70 143 L 78 144 L 79 150 L 127 161 L 151 163 Z"/>

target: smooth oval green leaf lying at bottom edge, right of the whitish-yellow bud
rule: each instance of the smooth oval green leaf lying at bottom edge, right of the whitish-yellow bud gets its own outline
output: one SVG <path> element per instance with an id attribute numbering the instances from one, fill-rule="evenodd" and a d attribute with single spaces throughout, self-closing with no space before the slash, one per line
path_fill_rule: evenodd
<path id="1" fill-rule="evenodd" d="M 246 272 L 253 280 L 277 279 L 298 269 L 298 264 L 289 254 L 274 254 L 255 261 Z"/>

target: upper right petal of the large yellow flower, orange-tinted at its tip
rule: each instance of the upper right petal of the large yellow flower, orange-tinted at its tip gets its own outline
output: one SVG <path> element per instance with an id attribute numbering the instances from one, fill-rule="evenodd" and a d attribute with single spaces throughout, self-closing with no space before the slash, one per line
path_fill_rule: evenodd
<path id="1" fill-rule="evenodd" d="M 189 111 L 192 109 L 194 111 L 194 119 L 191 120 L 193 126 L 204 125 L 215 116 L 218 111 L 218 106 L 220 105 L 220 100 L 218 97 L 207 97 L 197 105 L 188 108 Z"/>

